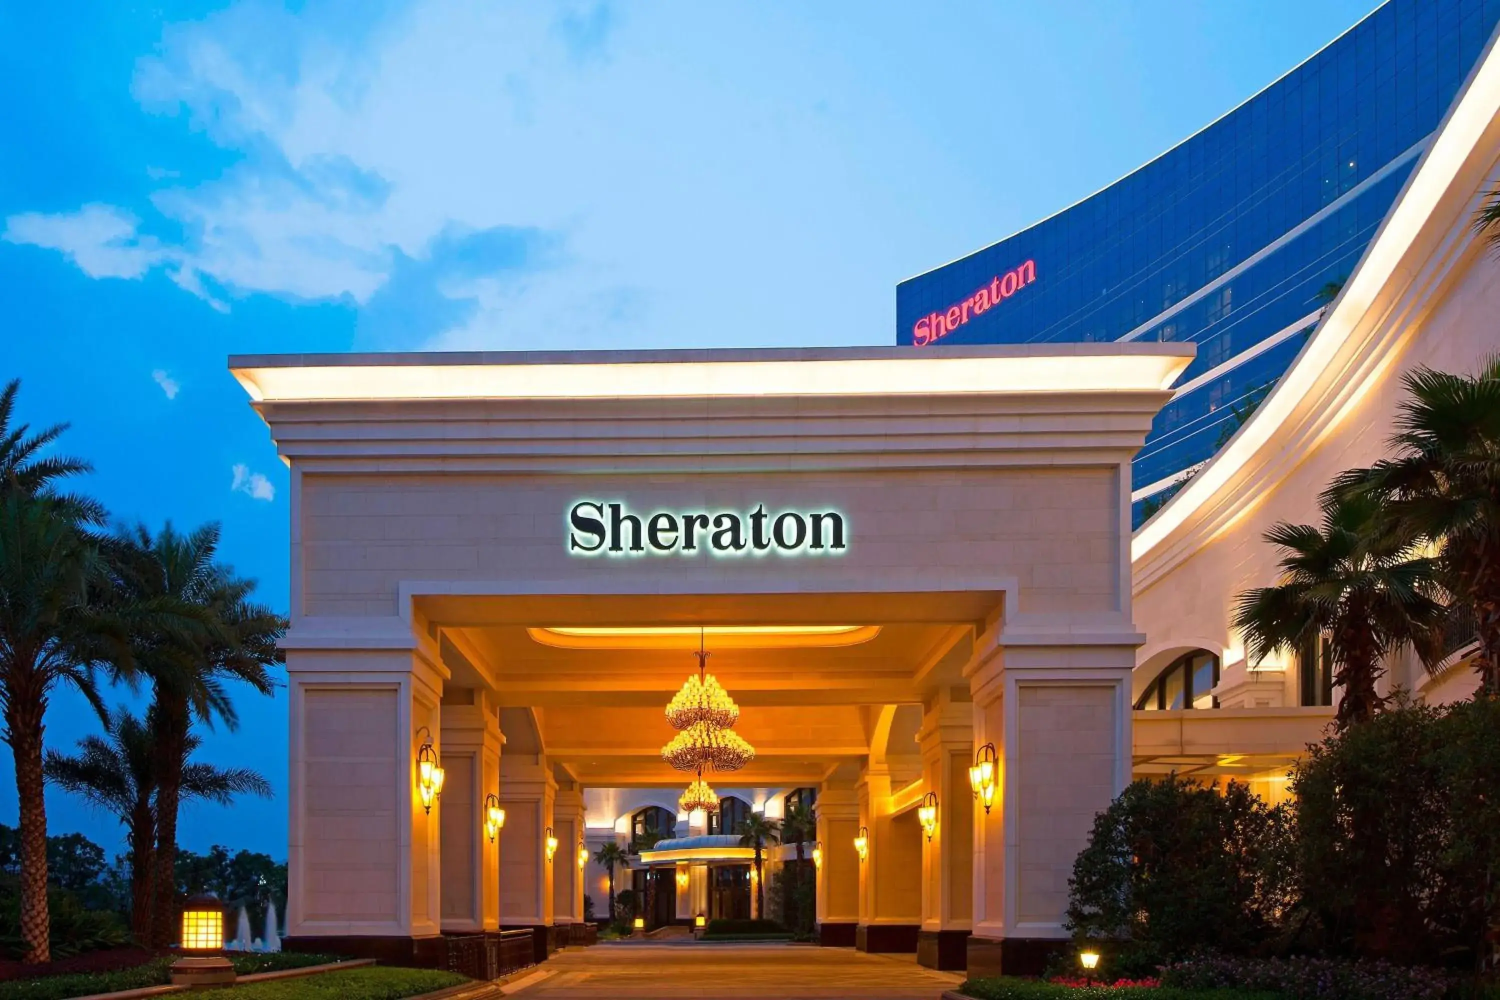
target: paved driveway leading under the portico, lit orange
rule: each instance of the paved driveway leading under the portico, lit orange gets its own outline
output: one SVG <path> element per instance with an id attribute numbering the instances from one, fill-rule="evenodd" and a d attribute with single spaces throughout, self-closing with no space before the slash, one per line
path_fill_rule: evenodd
<path id="1" fill-rule="evenodd" d="M 938 1000 L 962 976 L 914 955 L 808 945 L 597 945 L 570 948 L 506 990 L 519 1000 Z M 519 988 L 518 988 L 519 987 Z"/>

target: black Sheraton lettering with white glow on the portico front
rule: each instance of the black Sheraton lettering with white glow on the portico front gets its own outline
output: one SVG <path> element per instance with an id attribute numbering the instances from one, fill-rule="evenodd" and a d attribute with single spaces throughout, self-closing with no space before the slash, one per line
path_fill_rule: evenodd
<path id="1" fill-rule="evenodd" d="M 567 549 L 574 555 L 842 555 L 849 549 L 843 514 L 788 510 L 765 504 L 736 511 L 632 514 L 624 504 L 579 501 L 568 511 Z"/>

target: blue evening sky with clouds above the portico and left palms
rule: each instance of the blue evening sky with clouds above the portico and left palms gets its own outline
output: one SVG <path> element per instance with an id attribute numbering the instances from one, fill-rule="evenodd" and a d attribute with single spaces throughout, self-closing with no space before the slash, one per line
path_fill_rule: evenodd
<path id="1" fill-rule="evenodd" d="M 892 343 L 896 283 L 1138 166 L 1372 0 L 0 6 L 0 378 L 123 520 L 286 606 L 286 471 L 225 357 Z M 124 697 L 123 694 L 118 697 Z M 272 802 L 285 699 L 204 757 Z M 96 729 L 60 696 L 48 741 Z M 9 756 L 0 822 L 15 822 Z M 51 826 L 120 849 L 50 792 Z"/>

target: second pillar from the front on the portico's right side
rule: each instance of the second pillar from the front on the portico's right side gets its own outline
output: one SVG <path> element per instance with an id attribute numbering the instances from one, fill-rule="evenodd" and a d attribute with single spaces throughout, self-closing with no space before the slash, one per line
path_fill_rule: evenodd
<path id="1" fill-rule="evenodd" d="M 918 733 L 922 784 L 938 796 L 938 826 L 922 837 L 922 930 L 916 961 L 928 969 L 968 966 L 974 930 L 974 703 L 968 688 L 945 688 L 927 706 Z"/>

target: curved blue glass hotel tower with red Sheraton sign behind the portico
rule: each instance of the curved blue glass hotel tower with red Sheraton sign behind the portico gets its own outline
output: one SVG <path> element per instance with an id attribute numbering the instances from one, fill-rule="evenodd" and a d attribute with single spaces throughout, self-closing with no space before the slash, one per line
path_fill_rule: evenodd
<path id="1" fill-rule="evenodd" d="M 1500 0 L 1389 0 L 1104 190 L 902 282 L 897 342 L 1194 342 L 1136 457 L 1140 523 L 1290 366 L 1497 18 Z"/>

